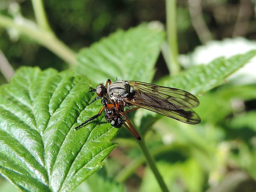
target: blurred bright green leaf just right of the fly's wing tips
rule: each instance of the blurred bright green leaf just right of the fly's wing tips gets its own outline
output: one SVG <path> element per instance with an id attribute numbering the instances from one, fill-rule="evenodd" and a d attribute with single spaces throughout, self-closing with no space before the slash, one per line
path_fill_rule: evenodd
<path id="1" fill-rule="evenodd" d="M 232 106 L 232 103 L 243 103 L 246 100 L 253 100 L 255 98 L 255 95 L 256 88 L 254 86 L 235 86 L 231 83 L 227 83 L 219 87 L 215 91 L 207 92 L 204 94 L 204 96 L 199 96 L 198 99 L 200 100 L 200 105 L 196 108 L 196 110 L 200 115 L 202 121 L 207 121 L 208 123 L 211 122 L 212 124 L 219 124 L 220 122 L 224 122 L 227 118 L 230 119 L 235 114 L 234 118 L 232 118 L 234 120 L 231 120 L 231 122 L 228 121 L 227 126 L 230 128 L 232 128 L 232 126 L 242 126 L 242 122 L 254 122 L 248 121 L 254 119 L 254 117 L 253 115 L 251 115 L 251 117 L 247 117 L 247 113 L 243 115 L 243 107 L 237 106 L 234 108 L 234 106 Z M 243 120 L 243 118 L 245 119 Z M 233 124 L 232 121 L 234 121 L 235 123 Z M 255 125 L 251 125 L 250 127 L 253 128 L 255 127 Z"/>

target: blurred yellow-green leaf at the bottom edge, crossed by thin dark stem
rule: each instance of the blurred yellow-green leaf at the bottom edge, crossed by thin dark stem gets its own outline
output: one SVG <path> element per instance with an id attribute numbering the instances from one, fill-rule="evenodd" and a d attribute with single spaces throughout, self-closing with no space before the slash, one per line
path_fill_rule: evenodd
<path id="1" fill-rule="evenodd" d="M 167 183 L 169 191 L 197 192 L 202 190 L 204 173 L 199 163 L 194 159 L 187 159 L 184 162 L 175 162 L 174 164 L 159 161 L 157 167 L 165 183 Z M 145 170 L 145 176 L 140 187 L 140 192 L 148 191 L 161 191 L 159 184 L 156 183 L 154 175 L 149 168 Z"/>

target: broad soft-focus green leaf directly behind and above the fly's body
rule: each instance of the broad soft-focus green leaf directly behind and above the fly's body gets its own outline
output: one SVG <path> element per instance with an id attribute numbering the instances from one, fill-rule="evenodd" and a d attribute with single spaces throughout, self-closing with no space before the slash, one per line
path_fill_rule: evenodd
<path id="1" fill-rule="evenodd" d="M 115 81 L 116 77 L 151 82 L 163 41 L 164 32 L 159 24 L 118 30 L 81 50 L 74 70 L 97 83 L 109 78 Z"/>

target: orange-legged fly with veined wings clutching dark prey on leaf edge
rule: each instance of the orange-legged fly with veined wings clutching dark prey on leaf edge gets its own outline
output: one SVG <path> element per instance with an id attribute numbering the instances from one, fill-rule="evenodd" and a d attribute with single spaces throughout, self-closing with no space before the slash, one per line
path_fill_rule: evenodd
<path id="1" fill-rule="evenodd" d="M 107 80 L 106 85 L 100 84 L 96 89 L 91 89 L 89 92 L 97 93 L 97 97 L 92 102 L 102 98 L 102 109 L 97 115 L 77 126 L 75 130 L 96 119 L 104 111 L 105 118 L 111 122 L 111 126 L 121 128 L 124 125 L 137 140 L 141 140 L 139 133 L 126 116 L 126 113 L 138 108 L 154 111 L 188 124 L 197 124 L 201 121 L 197 113 L 192 110 L 199 105 L 199 100 L 184 90 L 139 81 L 116 80 L 111 83 L 110 79 Z M 136 108 L 124 110 L 125 107 L 131 106 Z"/>

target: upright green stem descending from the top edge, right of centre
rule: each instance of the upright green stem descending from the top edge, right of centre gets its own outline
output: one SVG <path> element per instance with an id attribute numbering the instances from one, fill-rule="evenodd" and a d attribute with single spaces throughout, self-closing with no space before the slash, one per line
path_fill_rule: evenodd
<path id="1" fill-rule="evenodd" d="M 166 58 L 170 75 L 180 71 L 178 64 L 178 38 L 176 27 L 176 0 L 166 0 L 166 34 L 168 43 L 168 58 Z"/>

